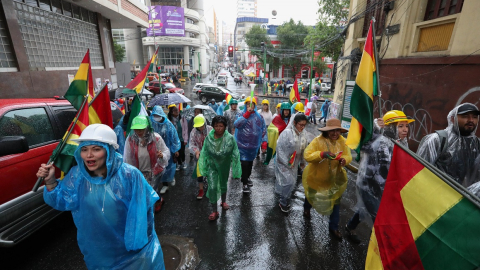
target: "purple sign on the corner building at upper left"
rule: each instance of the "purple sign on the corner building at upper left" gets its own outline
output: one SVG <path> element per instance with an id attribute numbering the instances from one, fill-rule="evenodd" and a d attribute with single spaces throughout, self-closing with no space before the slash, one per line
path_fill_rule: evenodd
<path id="1" fill-rule="evenodd" d="M 147 36 L 185 36 L 185 16 L 182 7 L 152 6 L 148 13 Z"/>

